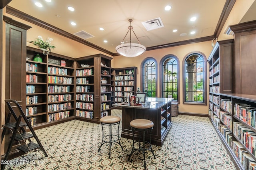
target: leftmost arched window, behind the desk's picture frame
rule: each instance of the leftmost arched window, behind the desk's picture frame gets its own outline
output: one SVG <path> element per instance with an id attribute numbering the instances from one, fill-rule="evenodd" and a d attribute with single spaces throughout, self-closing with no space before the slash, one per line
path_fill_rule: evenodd
<path id="1" fill-rule="evenodd" d="M 151 57 L 142 62 L 142 92 L 146 92 L 147 97 L 156 97 L 156 66 L 156 60 Z"/>

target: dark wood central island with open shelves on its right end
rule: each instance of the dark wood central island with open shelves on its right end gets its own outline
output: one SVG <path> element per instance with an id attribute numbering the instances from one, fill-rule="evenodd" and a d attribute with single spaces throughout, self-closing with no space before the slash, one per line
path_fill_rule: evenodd
<path id="1" fill-rule="evenodd" d="M 162 146 L 168 131 L 172 127 L 171 103 L 170 98 L 147 98 L 146 101 L 151 103 L 150 107 L 146 106 L 127 106 L 122 103 L 114 106 L 122 107 L 122 134 L 124 138 L 132 139 L 132 130 L 130 122 L 134 119 L 148 119 L 154 123 L 151 132 L 151 143 Z M 149 132 L 147 132 L 149 137 Z M 138 133 L 135 133 L 138 139 Z"/>

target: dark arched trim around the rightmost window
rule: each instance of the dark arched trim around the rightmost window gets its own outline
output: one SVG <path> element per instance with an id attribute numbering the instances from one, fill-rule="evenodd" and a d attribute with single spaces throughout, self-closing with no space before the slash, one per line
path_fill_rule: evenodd
<path id="1" fill-rule="evenodd" d="M 185 61 L 187 59 L 188 56 L 192 55 L 192 54 L 199 54 L 203 57 L 204 59 L 204 101 L 203 102 L 187 102 L 186 101 L 186 64 Z M 195 105 L 207 105 L 208 104 L 208 100 L 207 100 L 207 92 L 208 92 L 208 88 L 207 88 L 207 59 L 206 56 L 204 55 L 204 53 L 200 52 L 200 51 L 193 51 L 191 53 L 188 53 L 185 55 L 185 57 L 183 58 L 182 61 L 182 84 L 183 84 L 183 88 L 182 88 L 182 96 L 183 96 L 183 104 L 195 104 Z"/>

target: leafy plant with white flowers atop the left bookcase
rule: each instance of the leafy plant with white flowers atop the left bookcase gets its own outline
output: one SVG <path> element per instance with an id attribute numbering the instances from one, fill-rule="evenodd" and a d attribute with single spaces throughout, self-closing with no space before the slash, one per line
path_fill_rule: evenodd
<path id="1" fill-rule="evenodd" d="M 48 51 L 51 51 L 51 49 L 54 49 L 55 46 L 51 45 L 53 38 L 48 37 L 45 41 L 41 36 L 38 36 L 38 38 L 35 41 L 28 41 L 28 43 L 33 43 L 36 47 L 43 50 L 43 54 L 48 54 Z"/>

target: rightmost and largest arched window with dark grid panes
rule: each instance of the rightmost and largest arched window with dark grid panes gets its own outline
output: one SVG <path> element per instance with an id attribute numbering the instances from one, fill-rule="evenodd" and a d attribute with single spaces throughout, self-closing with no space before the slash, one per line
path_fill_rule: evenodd
<path id="1" fill-rule="evenodd" d="M 206 57 L 190 53 L 184 61 L 184 103 L 206 104 Z"/>

